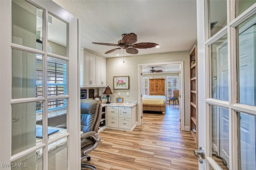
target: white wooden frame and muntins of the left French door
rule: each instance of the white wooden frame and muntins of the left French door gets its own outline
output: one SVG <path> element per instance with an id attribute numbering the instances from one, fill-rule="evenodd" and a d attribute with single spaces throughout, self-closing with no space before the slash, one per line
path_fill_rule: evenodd
<path id="1" fill-rule="evenodd" d="M 69 23 L 68 31 L 70 32 L 68 40 L 69 49 L 67 51 L 69 59 L 69 75 L 68 75 L 68 100 L 69 105 L 67 108 L 67 137 L 68 137 L 68 169 L 81 169 L 81 158 L 80 158 L 80 98 L 78 97 L 78 91 L 80 91 L 80 75 L 79 75 L 79 46 L 80 46 L 80 36 L 79 33 L 79 20 L 74 17 L 69 12 L 65 11 L 63 8 L 58 6 L 51 0 L 27 0 L 32 4 L 37 4 L 38 6 L 46 9 L 46 12 L 49 10 L 52 14 L 60 17 L 62 20 Z M 1 0 L 0 1 L 0 19 L 4 24 L 0 25 L 0 135 L 4 136 L 0 140 L 0 163 L 10 163 L 11 160 L 14 160 L 22 154 L 16 154 L 16 157 L 11 157 L 11 123 L 12 123 L 12 109 L 11 101 L 15 102 L 15 99 L 11 99 L 11 79 L 12 79 L 12 49 L 11 45 L 17 48 L 19 45 L 12 44 L 12 8 L 11 0 Z M 46 28 L 47 29 L 47 28 Z M 47 35 L 45 35 L 47 36 Z M 44 39 L 46 40 L 46 39 Z M 46 43 L 44 43 L 45 45 Z M 29 49 L 27 47 L 22 49 Z M 34 49 L 33 49 L 34 50 Z M 45 54 L 45 52 L 38 53 Z M 56 55 L 57 56 L 57 55 Z M 64 58 L 63 58 L 64 59 Z M 69 83 L 72 82 L 72 83 Z M 28 99 L 24 101 L 30 102 Z M 33 101 L 33 100 L 32 100 Z M 72 111 L 72 112 L 71 112 Z M 47 121 L 47 120 L 46 120 Z M 71 126 L 72 125 L 72 126 Z M 46 123 L 47 126 L 47 123 Z M 46 127 L 47 128 L 47 127 Z M 47 136 L 46 131 L 44 131 L 44 136 Z M 72 139 L 72 140 L 70 140 Z M 42 144 L 44 145 L 44 144 Z M 26 153 L 34 152 L 34 149 L 26 150 Z M 46 151 L 44 149 L 44 151 Z M 44 155 L 48 155 L 46 151 Z M 44 164 L 47 165 L 48 160 L 44 156 Z M 29 165 L 28 165 L 29 166 Z M 1 164 L 1 169 L 2 169 Z M 4 169 L 10 169 L 4 168 Z M 44 170 L 48 166 L 43 167 Z"/>

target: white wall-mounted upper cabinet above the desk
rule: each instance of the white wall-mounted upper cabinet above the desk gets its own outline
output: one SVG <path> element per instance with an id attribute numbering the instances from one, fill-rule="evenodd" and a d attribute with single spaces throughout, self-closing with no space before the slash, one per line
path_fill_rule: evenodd
<path id="1" fill-rule="evenodd" d="M 81 87 L 106 86 L 106 59 L 82 48 L 80 69 Z"/>

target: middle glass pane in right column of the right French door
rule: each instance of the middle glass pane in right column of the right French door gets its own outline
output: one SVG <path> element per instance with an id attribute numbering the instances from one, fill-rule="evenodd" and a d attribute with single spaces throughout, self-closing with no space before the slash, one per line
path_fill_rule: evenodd
<path id="1" fill-rule="evenodd" d="M 256 106 L 256 15 L 238 26 L 238 103 Z"/>

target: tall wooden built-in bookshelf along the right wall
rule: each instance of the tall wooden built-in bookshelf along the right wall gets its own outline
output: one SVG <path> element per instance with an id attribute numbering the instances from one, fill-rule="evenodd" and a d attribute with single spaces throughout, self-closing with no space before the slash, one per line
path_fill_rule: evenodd
<path id="1" fill-rule="evenodd" d="M 198 145 L 197 46 L 189 53 L 190 61 L 190 131 Z"/>

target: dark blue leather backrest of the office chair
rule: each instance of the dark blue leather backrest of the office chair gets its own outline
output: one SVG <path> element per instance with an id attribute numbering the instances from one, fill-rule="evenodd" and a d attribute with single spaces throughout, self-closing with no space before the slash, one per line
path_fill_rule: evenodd
<path id="1" fill-rule="evenodd" d="M 100 101 L 92 99 L 81 99 L 81 131 L 96 131 L 100 125 L 102 106 Z"/>

